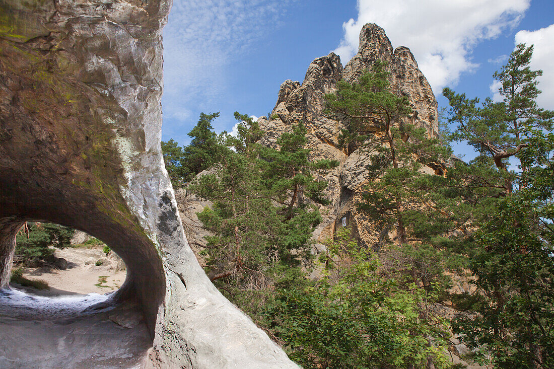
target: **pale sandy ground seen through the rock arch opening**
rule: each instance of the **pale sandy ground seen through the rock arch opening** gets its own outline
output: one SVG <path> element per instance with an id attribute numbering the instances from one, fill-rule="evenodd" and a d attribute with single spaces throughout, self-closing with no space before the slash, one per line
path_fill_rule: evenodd
<path id="1" fill-rule="evenodd" d="M 124 283 L 126 271 L 116 270 L 117 260 L 113 253 L 108 257 L 102 253 L 101 247 L 55 249 L 54 255 L 68 261 L 68 268 L 59 270 L 50 266 L 40 268 L 23 268 L 23 276 L 27 279 L 42 279 L 50 287 L 49 290 L 38 291 L 33 288 L 23 288 L 30 293 L 42 296 L 60 294 L 105 294 L 115 291 Z M 101 261 L 102 265 L 96 266 Z M 100 283 L 105 277 L 105 283 Z M 16 288 L 22 289 L 21 286 Z"/>

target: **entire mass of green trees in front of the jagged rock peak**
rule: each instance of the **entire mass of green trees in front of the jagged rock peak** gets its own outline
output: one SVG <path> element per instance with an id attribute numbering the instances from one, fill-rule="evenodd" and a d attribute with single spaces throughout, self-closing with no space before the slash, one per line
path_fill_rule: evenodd
<path id="1" fill-rule="evenodd" d="M 203 124 L 194 135 L 216 149 L 191 156 L 211 170 L 188 189 L 213 203 L 198 217 L 211 232 L 202 254 L 214 284 L 306 368 L 453 367 L 437 315 L 447 300 L 463 310 L 452 327 L 479 362 L 554 367 L 554 114 L 535 103 L 541 71 L 529 69 L 531 54 L 518 45 L 495 73 L 500 102 L 445 89 L 457 127 L 450 133 L 439 116 L 437 137 L 414 126 L 381 63 L 338 83 L 326 99 L 345 124 L 343 150 L 371 155 L 358 210 L 382 235 L 396 227 L 397 239 L 374 253 L 338 232 L 316 281 L 306 275 L 316 205 L 327 203 L 319 178 L 336 163 L 310 161 L 302 124 L 278 149 L 259 145 L 263 132 L 247 115 L 235 113 L 237 137 Z M 450 139 L 479 156 L 456 160 Z M 511 157 L 520 171 L 508 170 Z M 469 272 L 477 291 L 450 295 L 451 275 Z"/>

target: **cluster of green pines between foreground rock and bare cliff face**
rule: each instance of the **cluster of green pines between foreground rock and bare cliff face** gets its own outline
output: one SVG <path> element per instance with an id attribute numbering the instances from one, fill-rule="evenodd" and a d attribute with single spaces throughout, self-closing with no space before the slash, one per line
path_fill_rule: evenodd
<path id="1" fill-rule="evenodd" d="M 227 290 L 263 290 L 281 263 L 294 268 L 309 259 L 311 232 L 321 221 L 314 204 L 324 203 L 327 184 L 311 171 L 336 163 L 310 162 L 305 128 L 293 126 L 277 143 L 280 150 L 261 147 L 258 125 L 235 113 L 238 136 L 227 137 L 235 151 L 224 152 L 213 173 L 198 178 L 191 191 L 213 202 L 198 218 L 210 230 L 208 270 Z"/>

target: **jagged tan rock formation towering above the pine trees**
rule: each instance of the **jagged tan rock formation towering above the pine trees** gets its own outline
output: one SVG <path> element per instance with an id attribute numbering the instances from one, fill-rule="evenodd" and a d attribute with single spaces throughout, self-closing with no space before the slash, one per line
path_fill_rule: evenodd
<path id="1" fill-rule="evenodd" d="M 369 219 L 356 210 L 364 185 L 369 180 L 367 165 L 370 156 L 366 149 L 358 149 L 346 155 L 338 145 L 338 136 L 344 128 L 342 122 L 324 114 L 325 94 L 336 89 L 336 83 L 344 79 L 355 82 L 367 69 L 372 69 L 376 60 L 383 61 L 389 73 L 391 90 L 406 96 L 413 114 L 407 119 L 427 129 L 429 136 L 437 134 L 437 100 L 425 76 L 418 68 L 413 54 L 406 47 L 393 49 L 384 30 L 376 24 L 366 24 L 360 32 L 358 53 L 344 68 L 334 53 L 317 58 L 310 64 L 302 84 L 286 80 L 281 84 L 277 103 L 269 120 L 261 117 L 260 128 L 266 133 L 263 143 L 275 146 L 275 140 L 292 124 L 302 122 L 307 129 L 307 147 L 314 158 L 334 159 L 340 162 L 335 170 L 325 176 L 329 182 L 327 195 L 332 203 L 321 207 L 324 222 L 314 232 L 320 242 L 331 237 L 345 218 L 352 225 L 360 242 L 373 246 L 384 236 L 386 230 L 373 229 Z"/>

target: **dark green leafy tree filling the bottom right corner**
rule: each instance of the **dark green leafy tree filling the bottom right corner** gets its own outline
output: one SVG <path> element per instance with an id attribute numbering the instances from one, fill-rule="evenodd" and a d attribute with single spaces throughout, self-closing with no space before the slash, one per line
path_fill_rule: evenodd
<path id="1" fill-rule="evenodd" d="M 554 233 L 530 209 L 505 199 L 477 232 L 470 267 L 483 295 L 471 306 L 478 314 L 453 324 L 480 362 L 499 368 L 554 366 Z"/>

